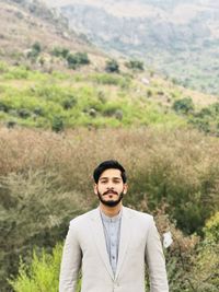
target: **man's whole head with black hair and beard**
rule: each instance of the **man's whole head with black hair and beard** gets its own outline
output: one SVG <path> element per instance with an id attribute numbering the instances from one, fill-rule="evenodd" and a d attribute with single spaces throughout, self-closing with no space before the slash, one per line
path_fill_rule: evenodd
<path id="1" fill-rule="evenodd" d="M 107 207 L 117 206 L 127 191 L 125 168 L 114 160 L 102 162 L 93 172 L 94 192 Z"/>

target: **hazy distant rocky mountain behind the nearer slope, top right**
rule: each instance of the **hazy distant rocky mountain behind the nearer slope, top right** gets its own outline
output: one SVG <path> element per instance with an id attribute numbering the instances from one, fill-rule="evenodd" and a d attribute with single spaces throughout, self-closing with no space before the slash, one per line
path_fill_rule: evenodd
<path id="1" fill-rule="evenodd" d="M 219 3 L 211 0 L 44 0 L 107 51 L 142 58 L 192 89 L 219 92 Z"/>

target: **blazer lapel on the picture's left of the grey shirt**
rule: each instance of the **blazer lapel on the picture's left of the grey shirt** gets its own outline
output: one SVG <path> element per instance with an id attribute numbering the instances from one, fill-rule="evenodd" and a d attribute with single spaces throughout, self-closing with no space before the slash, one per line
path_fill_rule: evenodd
<path id="1" fill-rule="evenodd" d="M 108 253 L 106 249 L 106 242 L 105 242 L 105 235 L 104 235 L 104 230 L 103 230 L 103 223 L 102 223 L 102 219 L 101 219 L 101 214 L 100 214 L 99 209 L 95 209 L 94 212 L 92 213 L 91 221 L 92 221 L 92 229 L 93 229 L 97 250 L 101 255 L 103 262 L 105 264 L 105 267 L 106 267 L 108 273 L 111 275 L 112 279 L 114 279 L 114 273 L 113 273 L 113 270 L 111 267 Z"/>

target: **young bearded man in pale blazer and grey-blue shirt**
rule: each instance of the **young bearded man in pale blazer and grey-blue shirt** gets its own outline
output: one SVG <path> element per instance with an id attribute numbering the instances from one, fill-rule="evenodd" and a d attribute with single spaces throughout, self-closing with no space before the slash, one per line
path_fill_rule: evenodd
<path id="1" fill-rule="evenodd" d="M 66 238 L 59 292 L 143 292 L 149 269 L 150 291 L 168 292 L 160 237 L 149 214 L 122 205 L 126 173 L 117 161 L 101 163 L 93 173 L 97 209 L 70 222 Z"/>

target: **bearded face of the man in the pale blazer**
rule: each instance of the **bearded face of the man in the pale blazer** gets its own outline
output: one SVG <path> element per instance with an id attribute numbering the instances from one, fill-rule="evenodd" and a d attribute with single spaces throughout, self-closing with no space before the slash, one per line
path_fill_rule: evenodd
<path id="1" fill-rule="evenodd" d="M 123 183 L 119 170 L 110 168 L 102 173 L 99 183 L 94 185 L 94 192 L 100 201 L 108 207 L 118 205 L 127 191 L 127 185 Z"/>

